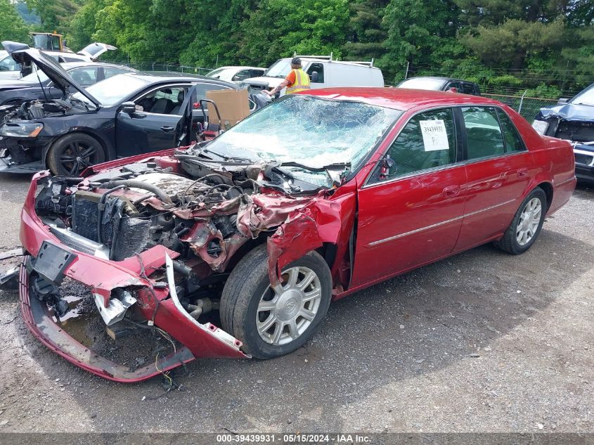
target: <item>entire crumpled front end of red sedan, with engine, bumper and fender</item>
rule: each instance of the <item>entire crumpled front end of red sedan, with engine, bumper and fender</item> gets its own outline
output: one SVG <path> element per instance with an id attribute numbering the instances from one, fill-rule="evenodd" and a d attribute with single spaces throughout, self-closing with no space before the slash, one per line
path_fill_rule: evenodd
<path id="1" fill-rule="evenodd" d="M 20 298 L 32 333 L 77 366 L 131 382 L 195 358 L 246 357 L 242 342 L 217 327 L 219 306 L 235 264 L 258 245 L 268 247 L 271 283 L 307 252 L 324 253 L 340 293 L 351 269 L 354 190 L 332 200 L 325 189 L 289 195 L 269 166 L 237 164 L 171 152 L 112 161 L 86 177 L 36 174 L 20 231 L 28 254 Z M 101 333 L 88 335 L 77 319 Z M 136 340 L 153 337 L 161 344 L 148 361 L 102 353 L 130 340 L 135 354 Z"/>

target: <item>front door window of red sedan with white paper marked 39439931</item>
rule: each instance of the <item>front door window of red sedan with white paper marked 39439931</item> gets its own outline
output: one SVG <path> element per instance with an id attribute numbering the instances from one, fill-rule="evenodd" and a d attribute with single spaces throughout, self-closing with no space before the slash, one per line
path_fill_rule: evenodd
<path id="1" fill-rule="evenodd" d="M 415 115 L 387 154 L 394 161 L 388 179 L 456 162 L 456 129 L 451 108 Z"/>

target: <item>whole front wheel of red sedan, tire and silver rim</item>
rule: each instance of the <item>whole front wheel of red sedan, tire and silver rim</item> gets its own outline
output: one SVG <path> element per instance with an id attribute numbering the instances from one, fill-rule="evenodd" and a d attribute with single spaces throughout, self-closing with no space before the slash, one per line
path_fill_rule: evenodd
<path id="1" fill-rule="evenodd" d="M 268 252 L 260 245 L 231 272 L 221 295 L 224 330 L 257 359 L 271 359 L 302 347 L 319 328 L 332 296 L 328 264 L 309 252 L 283 269 L 271 288 Z"/>

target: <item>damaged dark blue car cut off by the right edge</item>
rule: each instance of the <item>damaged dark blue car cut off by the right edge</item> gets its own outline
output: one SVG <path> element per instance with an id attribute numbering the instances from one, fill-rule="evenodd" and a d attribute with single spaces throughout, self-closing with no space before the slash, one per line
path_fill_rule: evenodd
<path id="1" fill-rule="evenodd" d="M 532 127 L 539 134 L 571 141 L 577 178 L 594 183 L 594 84 L 569 101 L 541 108 Z"/>

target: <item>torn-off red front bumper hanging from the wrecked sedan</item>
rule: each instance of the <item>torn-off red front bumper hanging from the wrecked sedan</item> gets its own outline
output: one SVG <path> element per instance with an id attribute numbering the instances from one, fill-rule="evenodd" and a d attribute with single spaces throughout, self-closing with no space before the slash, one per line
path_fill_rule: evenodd
<path id="1" fill-rule="evenodd" d="M 177 252 L 156 245 L 141 253 L 139 258 L 131 257 L 121 262 L 112 262 L 93 254 L 73 250 L 61 243 L 34 213 L 37 179 L 43 176 L 46 176 L 46 173 L 41 172 L 34 177 L 22 210 L 20 238 L 24 250 L 30 256 L 25 257 L 20 266 L 19 294 L 22 316 L 27 327 L 46 347 L 80 368 L 118 382 L 145 380 L 195 358 L 246 357 L 240 350 L 239 340 L 212 323 L 198 323 L 183 310 L 176 298 L 172 276 L 169 283 L 157 283 L 143 273 L 144 270 L 161 268 L 166 263 L 170 266 L 167 268 L 169 273 L 171 259 L 178 256 Z M 67 253 L 72 256 L 65 258 L 61 266 L 39 266 L 41 249 L 49 244 L 56 247 L 56 252 L 63 252 L 63 256 Z M 46 247 L 46 251 L 47 249 Z M 183 347 L 177 348 L 174 354 L 164 357 L 158 363 L 134 371 L 99 356 L 71 337 L 53 320 L 58 308 L 51 309 L 46 302 L 35 297 L 39 295 L 39 288 L 50 288 L 47 292 L 56 292 L 60 281 L 65 277 L 91 289 L 97 306 L 104 308 L 105 314 L 101 313 L 103 320 L 111 321 L 110 327 L 117 321 L 115 318 L 123 317 L 126 309 L 135 305 L 143 318 L 154 321 L 156 327 L 171 335 L 174 340 L 183 344 Z M 39 278 L 42 278 L 41 285 Z M 34 287 L 36 283 L 37 288 Z M 127 288 L 136 289 L 134 297 L 122 295 L 121 291 Z M 123 311 L 122 307 L 114 303 L 114 299 L 124 307 Z M 134 299 L 134 302 L 131 299 Z M 112 304 L 115 306 L 110 308 Z"/>

